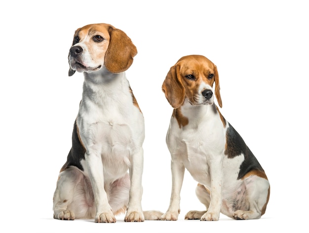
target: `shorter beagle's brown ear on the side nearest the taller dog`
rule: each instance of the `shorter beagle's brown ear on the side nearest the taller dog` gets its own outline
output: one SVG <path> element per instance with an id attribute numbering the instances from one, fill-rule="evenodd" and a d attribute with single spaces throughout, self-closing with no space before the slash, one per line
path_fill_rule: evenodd
<path id="1" fill-rule="evenodd" d="M 185 87 L 180 80 L 179 70 L 177 65 L 171 67 L 162 84 L 162 91 L 174 109 L 179 108 L 185 100 Z"/>

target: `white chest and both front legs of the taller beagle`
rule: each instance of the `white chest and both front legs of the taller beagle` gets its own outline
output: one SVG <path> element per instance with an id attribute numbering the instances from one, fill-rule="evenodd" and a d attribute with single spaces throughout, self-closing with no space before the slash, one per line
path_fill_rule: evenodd
<path id="1" fill-rule="evenodd" d="M 143 115 L 133 105 L 124 73 L 114 74 L 110 83 L 105 83 L 104 80 L 95 84 L 88 83 L 87 78 L 84 90 L 91 89 L 100 96 L 94 102 L 91 100 L 92 96 L 87 95 L 89 91 L 84 91 L 77 116 L 81 140 L 87 151 L 85 155 L 89 171 L 87 175 L 93 184 L 112 184 L 123 177 L 130 168 L 130 173 L 134 174 L 132 184 L 136 186 L 131 187 L 130 192 L 135 199 L 131 200 L 134 201 L 134 207 L 130 202 L 128 204 L 130 207 L 128 214 L 136 212 L 136 215 L 140 215 L 138 218 L 143 220 L 141 207 L 142 144 L 145 137 Z M 95 202 L 98 203 L 96 218 L 114 218 L 105 190 L 95 186 L 93 190 Z"/>

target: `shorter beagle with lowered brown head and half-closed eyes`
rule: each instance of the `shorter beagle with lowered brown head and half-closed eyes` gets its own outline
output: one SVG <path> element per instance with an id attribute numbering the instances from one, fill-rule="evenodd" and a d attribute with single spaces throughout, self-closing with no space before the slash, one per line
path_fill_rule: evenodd
<path id="1" fill-rule="evenodd" d="M 213 84 L 215 83 L 215 90 Z M 185 219 L 259 219 L 270 197 L 268 178 L 250 149 L 214 104 L 222 108 L 217 67 L 206 57 L 182 57 L 170 68 L 162 90 L 174 108 L 166 136 L 171 154 L 172 194 L 161 220 L 177 220 L 185 168 L 198 182 L 205 211 Z"/>

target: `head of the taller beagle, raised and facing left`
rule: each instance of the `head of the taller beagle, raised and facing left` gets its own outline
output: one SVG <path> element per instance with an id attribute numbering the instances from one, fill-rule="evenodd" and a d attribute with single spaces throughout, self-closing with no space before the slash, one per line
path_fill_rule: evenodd
<path id="1" fill-rule="evenodd" d="M 69 76 L 106 68 L 111 73 L 126 71 L 137 49 L 121 30 L 109 24 L 89 24 L 76 30 L 69 52 Z"/>

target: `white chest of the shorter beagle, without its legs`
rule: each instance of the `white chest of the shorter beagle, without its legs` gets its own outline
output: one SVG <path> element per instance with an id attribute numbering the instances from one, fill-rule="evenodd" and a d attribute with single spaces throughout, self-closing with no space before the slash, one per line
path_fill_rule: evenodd
<path id="1" fill-rule="evenodd" d="M 222 162 L 224 158 L 225 129 L 219 115 L 209 116 L 214 113 L 206 111 L 204 115 L 199 114 L 199 119 L 194 118 L 194 113 L 186 114 L 189 124 L 184 127 L 179 127 L 177 119 L 172 117 L 167 145 L 172 159 L 183 163 L 196 181 L 209 185 L 212 163 Z"/>

